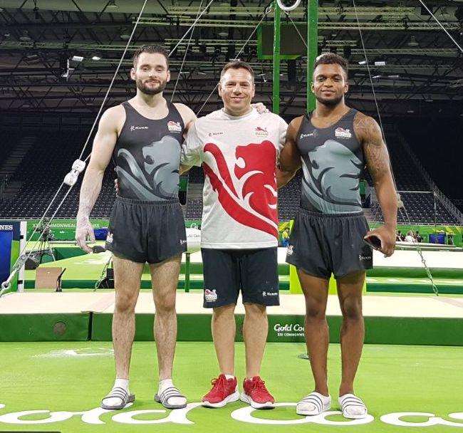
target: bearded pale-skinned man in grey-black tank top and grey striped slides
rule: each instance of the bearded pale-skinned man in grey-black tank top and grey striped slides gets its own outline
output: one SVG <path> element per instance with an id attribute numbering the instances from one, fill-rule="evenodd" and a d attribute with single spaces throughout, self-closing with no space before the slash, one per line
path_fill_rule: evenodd
<path id="1" fill-rule="evenodd" d="M 135 400 L 129 391 L 129 365 L 135 335 L 135 304 L 143 266 L 150 264 L 156 315 L 159 387 L 155 400 L 169 409 L 187 405 L 172 383 L 177 339 L 175 293 L 182 251 L 186 251 L 182 209 L 178 199 L 180 150 L 184 133 L 196 116 L 183 104 L 162 96 L 170 80 L 168 56 L 157 46 L 135 52 L 130 72 L 135 98 L 103 114 L 80 190 L 76 240 L 90 252 L 94 241 L 89 216 L 106 167 L 114 155 L 119 194 L 111 214 L 106 249 L 113 251 L 115 309 L 113 345 L 116 379 L 103 398 L 103 409 L 122 409 Z"/>

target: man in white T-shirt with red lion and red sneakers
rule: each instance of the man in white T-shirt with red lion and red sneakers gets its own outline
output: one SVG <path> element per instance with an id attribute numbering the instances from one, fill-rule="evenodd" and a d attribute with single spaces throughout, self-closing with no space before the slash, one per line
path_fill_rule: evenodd
<path id="1" fill-rule="evenodd" d="M 268 333 L 266 306 L 279 305 L 277 175 L 286 122 L 251 107 L 254 71 L 244 62 L 224 66 L 222 110 L 190 127 L 182 165 L 204 169 L 202 261 L 204 307 L 213 308 L 212 335 L 220 375 L 203 405 L 222 407 L 241 398 L 254 408 L 274 407 L 261 380 Z M 286 179 L 282 179 L 282 184 Z M 241 397 L 234 375 L 234 309 L 239 291 L 246 315 L 246 377 Z"/>

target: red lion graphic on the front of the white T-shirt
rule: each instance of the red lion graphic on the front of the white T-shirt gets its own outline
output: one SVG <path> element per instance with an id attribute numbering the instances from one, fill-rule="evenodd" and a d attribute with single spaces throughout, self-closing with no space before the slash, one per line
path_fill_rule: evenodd
<path id="1" fill-rule="evenodd" d="M 233 219 L 278 237 L 276 214 L 276 149 L 272 142 L 236 146 L 234 172 L 231 173 L 222 151 L 207 143 L 204 152 L 214 157 L 219 175 L 205 162 L 206 174 L 219 202 Z M 254 211 L 254 212 L 253 212 Z"/>

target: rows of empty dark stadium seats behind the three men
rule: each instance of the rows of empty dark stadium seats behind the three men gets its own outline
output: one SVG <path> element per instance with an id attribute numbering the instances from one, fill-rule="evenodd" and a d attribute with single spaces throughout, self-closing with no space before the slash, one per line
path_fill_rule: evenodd
<path id="1" fill-rule="evenodd" d="M 28 132 L 29 133 L 29 132 Z M 2 152 L 1 161 L 6 160 L 7 154 L 14 148 L 14 143 L 21 137 L 20 133 L 5 134 L 5 150 Z M 78 157 L 85 135 L 77 132 L 37 132 L 36 144 L 33 145 L 24 160 L 16 170 L 11 181 L 23 182 L 19 194 L 14 199 L 0 202 L 0 218 L 38 218 L 43 215 L 48 204 L 53 199 L 61 185 L 64 176 L 69 171 L 73 160 Z M 435 200 L 433 194 L 418 194 L 416 192 L 429 192 L 430 187 L 425 177 L 413 163 L 410 155 L 397 140 L 395 132 L 387 132 L 387 145 L 390 150 L 392 167 L 395 173 L 397 189 L 406 191 L 401 193 L 402 201 L 407 209 L 410 221 L 419 224 L 434 224 L 435 217 L 439 224 L 457 224 L 454 217 L 447 212 L 437 201 L 435 213 Z M 204 183 L 204 173 L 201 167 L 192 167 L 188 173 L 189 183 Z M 102 193 L 98 197 L 92 217 L 105 218 L 110 216 L 115 199 L 113 164 L 108 167 L 103 179 Z M 365 179 L 371 185 L 372 180 L 368 172 Z M 76 216 L 78 209 L 78 192 L 80 182 L 76 184 L 63 202 L 56 216 L 59 218 Z M 199 185 L 198 185 L 199 186 Z M 189 191 L 193 190 L 189 187 Z M 64 188 L 56 199 L 56 204 L 51 207 L 47 216 L 53 214 L 56 205 L 64 198 L 67 187 Z M 196 189 L 198 191 L 198 188 Z M 415 193 L 414 193 L 415 192 Z M 199 219 L 202 216 L 202 199 L 199 194 L 188 194 L 185 217 L 187 219 Z M 301 172 L 291 180 L 279 192 L 279 219 L 286 221 L 293 219 L 299 205 L 301 196 Z M 382 221 L 378 204 L 373 203 L 371 209 L 373 219 Z M 405 212 L 400 212 L 399 221 L 407 222 Z"/>

